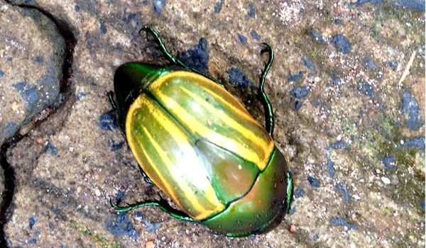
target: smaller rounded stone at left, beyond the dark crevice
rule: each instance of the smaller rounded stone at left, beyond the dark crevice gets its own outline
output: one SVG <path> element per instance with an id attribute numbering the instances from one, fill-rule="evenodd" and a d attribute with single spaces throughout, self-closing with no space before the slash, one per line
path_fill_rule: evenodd
<path id="1" fill-rule="evenodd" d="M 58 100 L 64 40 L 40 11 L 0 1 L 0 143 Z M 46 113 L 46 111 L 45 111 Z M 40 113 L 39 118 L 45 113 Z M 4 171 L 0 169 L 0 191 Z"/>

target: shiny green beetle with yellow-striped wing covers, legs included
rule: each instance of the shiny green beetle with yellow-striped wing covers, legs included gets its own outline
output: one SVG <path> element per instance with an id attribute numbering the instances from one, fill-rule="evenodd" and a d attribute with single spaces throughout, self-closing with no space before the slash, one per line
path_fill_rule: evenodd
<path id="1" fill-rule="evenodd" d="M 111 91 L 109 100 L 143 178 L 180 209 L 163 198 L 111 205 L 118 212 L 157 205 L 231 237 L 266 232 L 293 198 L 293 179 L 274 145 L 273 109 L 263 90 L 272 48 L 263 43 L 261 51 L 269 54 L 259 86 L 263 128 L 219 81 L 174 57 L 153 28 L 141 31 L 153 35 L 172 65 L 122 64 L 114 74 L 116 101 Z"/>

